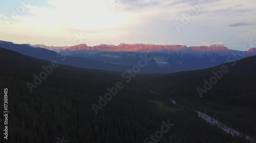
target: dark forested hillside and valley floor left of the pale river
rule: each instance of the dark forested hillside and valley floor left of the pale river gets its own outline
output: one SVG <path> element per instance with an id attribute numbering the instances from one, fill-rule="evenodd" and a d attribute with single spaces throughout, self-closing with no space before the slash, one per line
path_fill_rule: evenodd
<path id="1" fill-rule="evenodd" d="M 126 82 L 121 73 L 59 65 L 31 93 L 27 83 L 35 83 L 34 74 L 39 76 L 42 66 L 49 65 L 0 48 L 0 87 L 3 92 L 8 88 L 9 105 L 8 140 L 1 142 L 248 142 L 211 126 L 190 109 L 156 96 L 162 89 L 152 93 L 148 88 L 158 78 L 152 83 L 138 77 Z M 118 81 L 124 88 L 96 115 L 92 103 L 98 104 L 99 96 Z M 1 96 L 1 107 L 3 99 Z M 174 126 L 163 137 L 148 139 L 168 121 Z M 2 139 L 2 123 L 0 128 Z"/>

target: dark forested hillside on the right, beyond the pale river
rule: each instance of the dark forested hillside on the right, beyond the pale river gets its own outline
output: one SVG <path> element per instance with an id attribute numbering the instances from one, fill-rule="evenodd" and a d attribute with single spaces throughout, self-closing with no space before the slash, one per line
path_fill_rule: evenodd
<path id="1" fill-rule="evenodd" d="M 256 137 L 255 61 L 252 56 L 204 70 L 156 76 L 150 82 L 180 104 Z"/>

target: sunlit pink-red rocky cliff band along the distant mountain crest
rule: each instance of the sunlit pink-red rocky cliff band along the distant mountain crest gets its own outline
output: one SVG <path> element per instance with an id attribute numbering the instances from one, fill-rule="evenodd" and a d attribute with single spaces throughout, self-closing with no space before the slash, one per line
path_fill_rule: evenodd
<path id="1" fill-rule="evenodd" d="M 70 47 L 54 47 L 45 45 L 32 45 L 33 47 L 47 48 L 49 50 L 93 50 L 93 51 L 132 51 L 132 52 L 228 52 L 229 49 L 222 45 L 209 45 L 209 46 L 191 46 L 187 47 L 184 45 L 155 45 L 155 44 L 125 44 L 120 45 L 106 45 L 101 44 L 97 46 L 87 46 L 86 44 L 79 44 Z"/>

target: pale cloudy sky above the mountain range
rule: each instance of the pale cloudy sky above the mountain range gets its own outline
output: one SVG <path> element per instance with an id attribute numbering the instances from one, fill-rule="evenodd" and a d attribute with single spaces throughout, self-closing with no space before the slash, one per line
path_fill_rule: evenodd
<path id="1" fill-rule="evenodd" d="M 0 40 L 88 46 L 120 43 L 242 49 L 255 41 L 253 0 L 0 0 Z"/>

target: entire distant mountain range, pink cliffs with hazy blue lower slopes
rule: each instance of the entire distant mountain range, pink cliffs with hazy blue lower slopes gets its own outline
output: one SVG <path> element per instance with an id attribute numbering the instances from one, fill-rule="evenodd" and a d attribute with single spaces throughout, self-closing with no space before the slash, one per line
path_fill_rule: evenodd
<path id="1" fill-rule="evenodd" d="M 138 65 L 140 56 L 146 56 L 150 61 L 146 67 L 140 69 L 140 73 L 173 73 L 204 69 L 236 60 L 233 58 L 234 55 L 245 58 L 256 54 L 256 50 L 250 49 L 239 56 L 240 51 L 231 50 L 222 45 L 187 47 L 122 43 L 118 46 L 101 44 L 92 47 L 86 44 L 70 47 L 32 45 L 42 47 L 33 48 L 28 44 L 0 41 L 0 46 L 48 61 L 60 59 L 56 56 L 56 52 L 51 51 L 54 50 L 67 55 L 67 60 L 61 61 L 63 65 L 123 72 Z"/>

